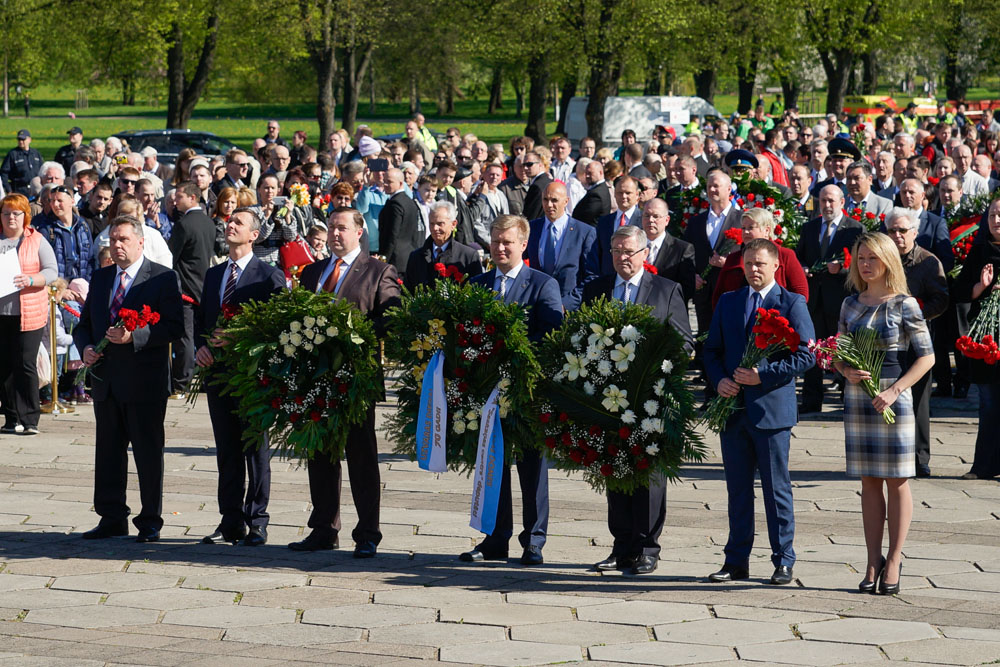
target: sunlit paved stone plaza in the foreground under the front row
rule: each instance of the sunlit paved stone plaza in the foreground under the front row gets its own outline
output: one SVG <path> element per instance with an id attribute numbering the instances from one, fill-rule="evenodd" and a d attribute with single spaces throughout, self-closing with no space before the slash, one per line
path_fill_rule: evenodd
<path id="1" fill-rule="evenodd" d="M 857 593 L 859 483 L 842 473 L 836 406 L 793 432 L 798 562 L 787 587 L 766 583 L 759 505 L 750 581 L 705 581 L 722 563 L 727 525 L 714 437 L 710 459 L 668 490 L 651 576 L 590 571 L 610 551 L 604 499 L 557 472 L 544 566 L 460 564 L 477 535 L 468 527 L 471 481 L 420 471 L 385 442 L 375 560 L 351 557 L 346 488 L 341 550 L 285 547 L 304 534 L 308 489 L 303 469 L 277 460 L 270 543 L 203 546 L 219 520 L 204 400 L 168 408 L 162 541 L 84 541 L 79 534 L 97 522 L 84 406 L 43 418 L 41 436 L 0 436 L 0 664 L 1000 662 L 1000 485 L 959 479 L 973 451 L 974 398 L 973 390 L 970 400 L 935 404 L 934 477 L 913 483 L 903 592 L 891 598 Z M 132 475 L 133 508 L 136 488 Z"/>

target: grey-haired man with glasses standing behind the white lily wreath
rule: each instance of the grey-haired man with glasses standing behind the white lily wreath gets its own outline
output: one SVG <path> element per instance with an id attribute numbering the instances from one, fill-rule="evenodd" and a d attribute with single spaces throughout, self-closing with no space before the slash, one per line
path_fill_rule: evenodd
<path id="1" fill-rule="evenodd" d="M 662 200 L 655 200 L 666 204 Z M 584 301 L 605 296 L 653 307 L 653 317 L 669 323 L 688 346 L 694 346 L 687 306 L 681 286 L 643 269 L 649 249 L 646 234 L 638 227 L 619 227 L 611 236 L 615 275 L 602 276 L 584 289 Z M 648 488 L 631 494 L 608 491 L 608 529 L 614 536 L 611 555 L 594 565 L 599 571 L 629 570 L 649 574 L 660 557 L 660 533 L 667 517 L 667 481 L 650 477 Z"/>

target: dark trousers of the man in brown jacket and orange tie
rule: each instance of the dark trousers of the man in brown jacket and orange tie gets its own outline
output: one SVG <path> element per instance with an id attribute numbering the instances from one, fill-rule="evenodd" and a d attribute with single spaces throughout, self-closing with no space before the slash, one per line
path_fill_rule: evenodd
<path id="1" fill-rule="evenodd" d="M 358 512 L 358 525 L 351 532 L 355 542 L 382 541 L 379 530 L 379 501 L 382 480 L 378 470 L 378 444 L 375 440 L 375 406 L 368 408 L 365 421 L 347 435 L 347 472 L 351 476 L 351 496 Z M 309 497 L 313 511 L 309 527 L 321 535 L 340 534 L 340 459 L 318 455 L 309 461 Z"/>

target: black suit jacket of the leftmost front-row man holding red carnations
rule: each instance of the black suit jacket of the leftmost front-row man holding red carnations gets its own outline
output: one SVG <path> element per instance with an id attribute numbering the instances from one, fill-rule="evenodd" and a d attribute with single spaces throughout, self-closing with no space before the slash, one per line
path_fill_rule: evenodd
<path id="1" fill-rule="evenodd" d="M 116 288 L 114 265 L 94 271 L 90 292 L 73 330 L 73 343 L 83 355 L 88 345 L 97 345 L 111 326 L 111 292 Z M 199 295 L 200 296 L 200 295 Z M 123 308 L 141 310 L 149 306 L 160 321 L 132 332 L 132 342 L 109 344 L 91 375 L 91 394 L 106 401 L 112 395 L 120 403 L 166 401 L 170 395 L 169 344 L 184 334 L 184 314 L 177 274 L 148 259 L 129 287 Z"/>

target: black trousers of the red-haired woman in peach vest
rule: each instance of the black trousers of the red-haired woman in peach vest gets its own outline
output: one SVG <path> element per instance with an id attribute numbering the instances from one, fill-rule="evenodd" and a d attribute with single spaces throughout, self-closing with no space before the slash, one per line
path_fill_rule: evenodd
<path id="1" fill-rule="evenodd" d="M 0 317 L 0 401 L 8 426 L 38 426 L 38 346 L 45 327 L 21 331 L 21 316 Z"/>

